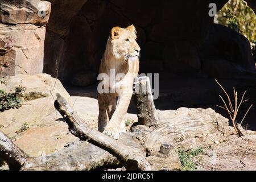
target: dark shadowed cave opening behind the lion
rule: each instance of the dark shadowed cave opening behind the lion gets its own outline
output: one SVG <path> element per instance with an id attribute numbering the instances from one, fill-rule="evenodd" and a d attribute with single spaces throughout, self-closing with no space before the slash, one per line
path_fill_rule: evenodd
<path id="1" fill-rule="evenodd" d="M 215 2 L 220 10 L 227 1 Z M 255 102 L 255 86 L 248 78 L 255 71 L 250 44 L 238 32 L 213 23 L 210 1 L 73 3 L 59 6 L 52 1 L 44 57 L 44 72 L 57 76 L 72 95 L 97 98 L 98 67 L 110 30 L 134 24 L 141 47 L 140 73 L 159 73 L 157 109 L 212 107 L 228 117 L 216 107 L 221 90 L 214 78 L 230 93 L 233 86 L 240 93 L 248 90 L 247 97 Z M 134 107 L 129 111 L 134 113 Z M 251 113 L 254 118 L 256 112 Z M 250 118 L 246 122 L 253 123 Z"/>

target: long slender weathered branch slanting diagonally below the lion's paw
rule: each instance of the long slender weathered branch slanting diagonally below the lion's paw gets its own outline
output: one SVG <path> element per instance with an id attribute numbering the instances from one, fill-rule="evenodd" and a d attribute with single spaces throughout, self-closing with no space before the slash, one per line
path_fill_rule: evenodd
<path id="1" fill-rule="evenodd" d="M 69 126 L 69 130 L 73 135 L 79 137 L 82 140 L 88 140 L 88 142 L 104 148 L 109 151 L 110 154 L 117 156 L 126 167 L 126 169 L 141 169 L 150 170 L 150 164 L 147 162 L 146 157 L 143 156 L 135 148 L 126 146 L 125 144 L 118 142 L 117 140 L 108 137 L 96 130 L 89 129 L 84 122 L 81 121 L 79 115 L 68 104 L 65 99 L 57 94 L 57 100 L 55 101 L 55 108 L 60 112 Z"/>

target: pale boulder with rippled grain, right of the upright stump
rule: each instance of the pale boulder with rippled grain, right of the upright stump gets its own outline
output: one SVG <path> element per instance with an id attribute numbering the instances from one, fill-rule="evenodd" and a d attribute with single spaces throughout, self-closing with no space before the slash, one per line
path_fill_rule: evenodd
<path id="1" fill-rule="evenodd" d="M 149 154 L 159 151 L 162 144 L 172 148 L 196 148 L 212 134 L 229 133 L 228 119 L 213 109 L 181 107 L 177 110 L 158 110 L 158 124 L 146 134 L 145 146 Z"/>

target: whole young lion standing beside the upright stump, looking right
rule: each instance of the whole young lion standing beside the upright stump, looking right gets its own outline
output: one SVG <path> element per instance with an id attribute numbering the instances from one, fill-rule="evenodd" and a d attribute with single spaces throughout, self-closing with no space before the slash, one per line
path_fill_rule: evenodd
<path id="1" fill-rule="evenodd" d="M 100 73 L 104 73 L 103 75 L 109 78 L 103 79 L 99 84 L 103 85 L 103 88 L 108 85 L 107 89 L 104 88 L 108 92 L 100 93 L 98 96 L 98 131 L 115 139 L 119 138 L 121 132 L 126 131 L 123 117 L 133 95 L 134 78 L 138 76 L 141 48 L 136 39 L 136 30 L 133 25 L 127 28 L 112 28 L 101 60 Z M 115 80 L 115 76 L 120 75 L 119 73 L 123 76 Z"/>

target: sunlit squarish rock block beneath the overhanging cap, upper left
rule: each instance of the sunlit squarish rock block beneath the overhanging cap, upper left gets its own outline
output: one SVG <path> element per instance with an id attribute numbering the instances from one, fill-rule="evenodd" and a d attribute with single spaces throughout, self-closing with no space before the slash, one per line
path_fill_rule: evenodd
<path id="1" fill-rule="evenodd" d="M 43 72 L 45 27 L 0 23 L 0 32 L 0 39 L 3 40 L 0 49 L 5 49 L 6 44 L 11 47 L 9 51 L 0 53 L 0 60 L 6 65 L 0 75 L 35 75 Z"/>

